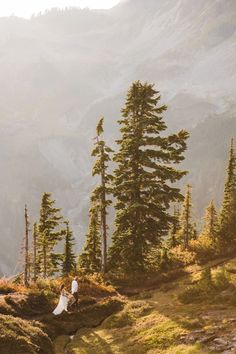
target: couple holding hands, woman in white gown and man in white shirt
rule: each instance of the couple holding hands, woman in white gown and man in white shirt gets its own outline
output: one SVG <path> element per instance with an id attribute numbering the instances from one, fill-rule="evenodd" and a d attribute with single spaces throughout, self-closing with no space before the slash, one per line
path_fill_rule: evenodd
<path id="1" fill-rule="evenodd" d="M 78 279 L 77 277 L 74 277 L 72 283 L 71 283 L 71 294 L 73 296 L 73 301 L 70 304 L 70 307 L 75 306 L 76 309 L 78 308 Z M 53 314 L 55 316 L 60 315 L 63 311 L 68 312 L 67 307 L 68 307 L 68 298 L 70 294 L 65 290 L 65 285 L 61 285 L 61 292 L 60 292 L 60 298 L 59 298 L 59 303 L 55 310 L 53 311 Z"/>

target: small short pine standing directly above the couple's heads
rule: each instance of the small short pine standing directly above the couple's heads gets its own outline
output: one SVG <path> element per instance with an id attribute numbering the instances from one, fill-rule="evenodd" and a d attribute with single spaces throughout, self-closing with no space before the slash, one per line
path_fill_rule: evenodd
<path id="1" fill-rule="evenodd" d="M 62 274 L 69 275 L 76 268 L 76 256 L 73 252 L 73 246 L 75 245 L 75 239 L 73 237 L 73 232 L 69 227 L 69 221 L 65 221 L 65 245 L 62 260 Z"/>

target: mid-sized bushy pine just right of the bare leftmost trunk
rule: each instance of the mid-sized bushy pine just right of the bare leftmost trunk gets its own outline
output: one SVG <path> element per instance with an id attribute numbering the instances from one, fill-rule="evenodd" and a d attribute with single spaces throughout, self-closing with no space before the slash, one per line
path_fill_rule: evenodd
<path id="1" fill-rule="evenodd" d="M 60 215 L 60 210 L 55 207 L 55 200 L 51 199 L 51 194 L 44 193 L 38 225 L 38 255 L 41 273 L 44 278 L 53 275 L 58 270 L 61 261 L 61 255 L 53 252 L 55 245 L 62 238 L 62 230 L 60 229 L 62 216 Z"/>

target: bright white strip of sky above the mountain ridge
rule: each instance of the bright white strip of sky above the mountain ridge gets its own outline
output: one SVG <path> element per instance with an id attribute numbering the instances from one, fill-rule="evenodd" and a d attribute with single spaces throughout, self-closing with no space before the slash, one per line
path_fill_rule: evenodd
<path id="1" fill-rule="evenodd" d="M 0 17 L 12 14 L 30 17 L 52 7 L 89 7 L 91 9 L 108 9 L 118 4 L 119 0 L 0 0 Z"/>

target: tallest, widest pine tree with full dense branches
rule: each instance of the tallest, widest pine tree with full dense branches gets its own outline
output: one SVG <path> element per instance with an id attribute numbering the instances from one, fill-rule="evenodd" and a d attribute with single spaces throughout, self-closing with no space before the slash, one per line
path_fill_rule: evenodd
<path id="1" fill-rule="evenodd" d="M 134 82 L 119 120 L 122 136 L 114 156 L 116 219 L 109 259 L 113 269 L 131 273 L 145 270 L 148 252 L 167 234 L 170 204 L 182 197 L 172 183 L 186 173 L 174 164 L 184 159 L 188 133 L 161 136 L 167 129 L 162 118 L 167 107 L 159 101 L 154 85 Z"/>

